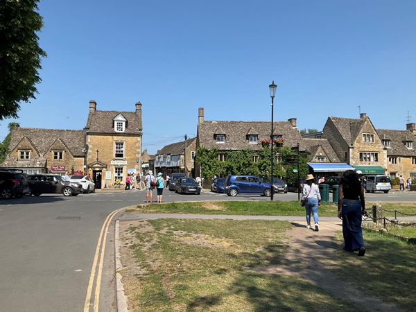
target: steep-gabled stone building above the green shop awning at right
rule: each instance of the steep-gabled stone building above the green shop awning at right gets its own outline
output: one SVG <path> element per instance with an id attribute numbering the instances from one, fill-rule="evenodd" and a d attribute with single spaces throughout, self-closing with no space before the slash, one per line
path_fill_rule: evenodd
<path id="1" fill-rule="evenodd" d="M 387 148 L 366 114 L 360 119 L 328 117 L 323 134 L 336 155 L 364 174 L 387 171 Z"/>

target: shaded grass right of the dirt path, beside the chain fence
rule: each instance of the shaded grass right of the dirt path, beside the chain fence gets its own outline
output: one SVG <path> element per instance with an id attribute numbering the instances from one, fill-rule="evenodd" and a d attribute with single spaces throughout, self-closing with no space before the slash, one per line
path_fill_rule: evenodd
<path id="1" fill-rule="evenodd" d="M 407 311 L 416 311 L 416 245 L 376 232 L 363 230 L 363 234 L 365 257 L 336 251 L 334 274 L 362 289 L 363 295 L 379 296 Z M 343 244 L 341 232 L 337 239 Z"/>

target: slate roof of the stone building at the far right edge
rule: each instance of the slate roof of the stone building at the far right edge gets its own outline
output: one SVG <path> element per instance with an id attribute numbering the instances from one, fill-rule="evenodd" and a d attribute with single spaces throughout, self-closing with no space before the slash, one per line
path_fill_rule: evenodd
<path id="1" fill-rule="evenodd" d="M 416 136 L 409 130 L 376 129 L 379 136 L 390 139 L 388 156 L 416 156 Z M 413 150 L 409 150 L 404 141 L 413 141 Z"/>

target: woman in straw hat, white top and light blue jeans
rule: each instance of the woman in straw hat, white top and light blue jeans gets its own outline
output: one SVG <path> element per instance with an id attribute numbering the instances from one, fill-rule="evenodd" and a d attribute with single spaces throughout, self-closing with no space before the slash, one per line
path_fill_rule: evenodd
<path id="1" fill-rule="evenodd" d="M 306 227 L 311 228 L 311 212 L 313 214 L 313 220 L 315 221 L 315 231 L 319 231 L 318 224 L 318 207 L 320 207 L 320 192 L 319 187 L 315 183 L 315 177 L 308 175 L 306 177 L 306 184 L 302 190 L 302 202 L 306 209 Z M 301 205 L 302 205 L 301 202 Z"/>

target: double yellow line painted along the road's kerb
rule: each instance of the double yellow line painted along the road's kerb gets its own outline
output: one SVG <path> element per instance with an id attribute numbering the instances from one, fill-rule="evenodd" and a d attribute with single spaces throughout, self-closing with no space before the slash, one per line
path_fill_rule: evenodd
<path id="1" fill-rule="evenodd" d="M 119 213 L 120 211 L 124 209 L 125 208 L 117 209 L 116 211 L 113 211 L 111 214 L 109 214 L 107 218 L 105 219 L 103 227 L 101 228 L 100 237 L 98 238 L 96 253 L 94 256 L 94 261 L 92 263 L 91 275 L 89 276 L 87 297 L 85 297 L 85 304 L 84 304 L 84 312 L 89 312 L 89 307 L 92 305 L 94 305 L 94 312 L 98 312 L 98 304 L 100 303 L 101 276 L 103 275 L 102 273 L 103 273 L 103 262 L 104 262 L 104 252 L 105 252 L 105 241 L 107 239 L 108 227 L 110 226 L 112 218 L 117 213 Z M 103 239 L 103 234 L 104 234 L 104 239 Z M 101 248 L 101 245 L 103 245 L 103 248 Z M 100 248 L 101 248 L 101 252 L 100 252 Z M 92 304 L 91 303 L 92 287 L 94 286 L 94 279 L 96 276 L 98 255 L 100 255 L 100 263 L 98 265 L 96 288 L 95 288 L 95 293 L 94 293 L 94 304 Z"/>

